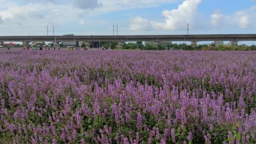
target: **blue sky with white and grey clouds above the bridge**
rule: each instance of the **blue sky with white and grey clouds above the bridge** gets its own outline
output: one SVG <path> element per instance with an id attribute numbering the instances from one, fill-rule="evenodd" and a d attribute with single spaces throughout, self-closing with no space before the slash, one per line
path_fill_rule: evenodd
<path id="1" fill-rule="evenodd" d="M 0 35 L 245 34 L 255 13 L 256 0 L 0 0 Z"/>

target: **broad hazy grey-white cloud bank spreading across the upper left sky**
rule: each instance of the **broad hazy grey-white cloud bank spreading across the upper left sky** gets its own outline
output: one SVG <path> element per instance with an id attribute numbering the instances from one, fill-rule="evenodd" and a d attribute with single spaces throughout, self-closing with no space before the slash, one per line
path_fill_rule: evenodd
<path id="1" fill-rule="evenodd" d="M 178 0 L 0 0 L 0 3 L 5 4 L 0 5 L 0 33 L 20 35 L 17 34 L 17 30 L 20 29 L 23 30 L 20 32 L 21 35 L 33 35 L 29 31 L 40 30 L 43 31 L 41 33 L 45 33 L 46 25 L 61 27 L 65 24 L 67 26 L 71 21 L 83 25 L 83 20 L 102 13 L 155 7 L 175 1 Z M 99 24 L 97 21 L 91 22 Z M 40 35 L 40 32 L 36 35 Z"/>

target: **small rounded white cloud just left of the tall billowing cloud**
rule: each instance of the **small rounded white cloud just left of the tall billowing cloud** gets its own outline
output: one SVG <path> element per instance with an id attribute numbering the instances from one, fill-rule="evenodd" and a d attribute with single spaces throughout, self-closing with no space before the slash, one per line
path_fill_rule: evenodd
<path id="1" fill-rule="evenodd" d="M 130 22 L 131 30 L 147 30 L 150 28 L 150 23 L 147 19 L 143 19 L 140 16 L 136 16 Z"/>

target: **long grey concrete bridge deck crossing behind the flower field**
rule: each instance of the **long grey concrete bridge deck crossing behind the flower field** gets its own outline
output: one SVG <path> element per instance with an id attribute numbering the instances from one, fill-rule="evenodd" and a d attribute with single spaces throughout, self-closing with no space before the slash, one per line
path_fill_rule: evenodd
<path id="1" fill-rule="evenodd" d="M 85 36 L 0 36 L 0 42 L 53 42 L 56 41 L 102 41 L 102 42 L 129 42 L 129 41 L 146 41 L 146 42 L 165 42 L 165 41 L 256 41 L 256 34 L 235 34 L 235 35 L 85 35 Z"/>

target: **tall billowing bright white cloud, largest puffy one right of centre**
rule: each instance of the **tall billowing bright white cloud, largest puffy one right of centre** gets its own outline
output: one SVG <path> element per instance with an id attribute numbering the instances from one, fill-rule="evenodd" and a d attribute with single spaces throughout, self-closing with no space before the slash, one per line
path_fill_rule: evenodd
<path id="1" fill-rule="evenodd" d="M 197 6 L 202 0 L 185 0 L 178 9 L 171 11 L 165 10 L 162 15 L 165 17 L 165 22 L 152 21 L 151 24 L 155 29 L 174 30 L 183 28 L 186 23 L 195 23 Z"/>

